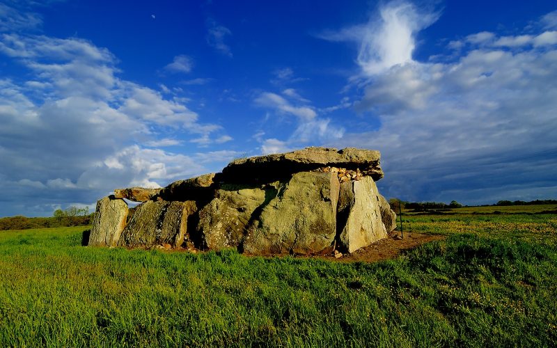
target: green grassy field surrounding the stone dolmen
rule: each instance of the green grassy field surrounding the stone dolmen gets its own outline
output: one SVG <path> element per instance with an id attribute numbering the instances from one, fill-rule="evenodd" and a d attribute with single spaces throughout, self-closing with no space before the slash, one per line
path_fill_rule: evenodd
<path id="1" fill-rule="evenodd" d="M 81 246 L 0 232 L 0 346 L 554 346 L 557 216 L 409 216 L 372 264 Z"/>

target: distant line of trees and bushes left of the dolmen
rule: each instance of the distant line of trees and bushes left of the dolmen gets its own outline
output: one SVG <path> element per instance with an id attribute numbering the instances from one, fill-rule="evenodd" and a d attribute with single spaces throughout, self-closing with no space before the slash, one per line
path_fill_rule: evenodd
<path id="1" fill-rule="evenodd" d="M 56 209 L 50 217 L 10 216 L 0 218 L 0 230 L 29 230 L 30 228 L 86 226 L 93 222 L 89 208 L 71 206 L 68 209 Z"/>

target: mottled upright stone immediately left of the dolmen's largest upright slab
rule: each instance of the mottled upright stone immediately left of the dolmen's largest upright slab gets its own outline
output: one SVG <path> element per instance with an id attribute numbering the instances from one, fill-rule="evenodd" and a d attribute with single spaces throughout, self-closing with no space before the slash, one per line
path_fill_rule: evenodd
<path id="1" fill-rule="evenodd" d="M 237 247 L 243 242 L 245 228 L 263 203 L 276 192 L 240 185 L 223 185 L 216 197 L 199 212 L 198 230 L 210 250 Z"/>

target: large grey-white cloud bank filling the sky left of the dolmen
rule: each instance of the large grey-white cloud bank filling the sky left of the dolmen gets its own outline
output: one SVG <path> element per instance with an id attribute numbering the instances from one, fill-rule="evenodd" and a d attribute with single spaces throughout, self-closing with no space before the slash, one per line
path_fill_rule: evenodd
<path id="1" fill-rule="evenodd" d="M 201 174 L 195 155 L 162 148 L 230 141 L 187 100 L 120 79 L 116 57 L 92 42 L 12 31 L 0 34 L 0 54 L 29 72 L 0 79 L 0 214 L 49 215 L 115 187 Z"/>

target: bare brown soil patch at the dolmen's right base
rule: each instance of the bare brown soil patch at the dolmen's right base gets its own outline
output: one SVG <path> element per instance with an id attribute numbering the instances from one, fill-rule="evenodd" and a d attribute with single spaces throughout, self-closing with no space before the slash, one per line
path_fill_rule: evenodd
<path id="1" fill-rule="evenodd" d="M 398 236 L 400 237 L 400 233 Z M 340 258 L 335 258 L 334 255 L 312 257 L 337 262 L 376 262 L 396 258 L 404 250 L 413 249 L 421 244 L 445 238 L 446 236 L 442 235 L 424 235 L 416 232 L 404 232 L 404 238 L 402 239 L 396 239 L 396 237 L 381 239 L 364 248 L 359 248 L 354 251 L 354 253 L 344 254 Z"/>

